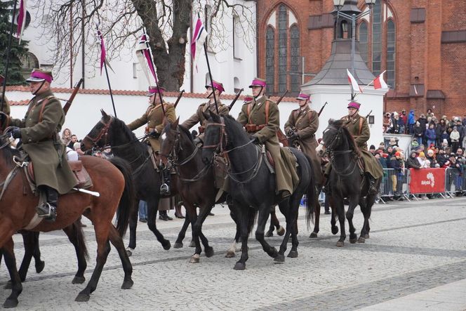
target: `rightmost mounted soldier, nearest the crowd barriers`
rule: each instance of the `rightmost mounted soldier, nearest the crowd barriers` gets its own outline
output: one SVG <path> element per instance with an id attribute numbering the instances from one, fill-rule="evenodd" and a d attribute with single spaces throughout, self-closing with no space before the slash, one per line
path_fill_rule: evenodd
<path id="1" fill-rule="evenodd" d="M 377 187 L 375 187 L 375 180 L 382 177 L 382 166 L 380 166 L 377 159 L 375 159 L 367 149 L 367 141 L 371 137 L 371 131 L 369 129 L 367 119 L 359 115 L 359 107 L 361 107 L 361 104 L 352 100 L 349 102 L 347 107 L 347 116 L 342 117 L 341 119 L 349 133 L 353 136 L 354 141 L 361 152 L 361 159 L 364 162 L 364 174 L 366 175 L 369 183 L 369 194 L 377 194 L 378 190 Z M 328 176 L 330 171 L 331 165 L 328 165 L 325 175 Z M 325 188 L 326 192 L 330 189 L 330 187 L 328 187 L 328 179 Z"/>

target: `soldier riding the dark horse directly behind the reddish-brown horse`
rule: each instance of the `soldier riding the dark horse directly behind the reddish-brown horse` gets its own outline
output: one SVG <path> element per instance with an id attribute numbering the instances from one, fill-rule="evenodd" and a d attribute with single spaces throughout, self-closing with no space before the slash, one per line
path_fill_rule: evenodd
<path id="1" fill-rule="evenodd" d="M 174 122 L 176 120 L 175 108 L 173 105 L 163 102 L 161 103 L 161 95 L 164 94 L 165 89 L 157 86 L 149 86 L 149 91 L 146 96 L 149 96 L 149 107 L 142 117 L 135 119 L 128 124 L 128 128 L 134 131 L 136 128 L 147 124 L 145 133 L 148 134 L 147 141 L 152 147 L 154 154 L 159 154 L 161 138 L 161 131 L 164 129 L 166 121 Z M 160 194 L 170 194 L 170 171 L 166 167 L 162 167 L 162 185 L 160 186 Z"/>

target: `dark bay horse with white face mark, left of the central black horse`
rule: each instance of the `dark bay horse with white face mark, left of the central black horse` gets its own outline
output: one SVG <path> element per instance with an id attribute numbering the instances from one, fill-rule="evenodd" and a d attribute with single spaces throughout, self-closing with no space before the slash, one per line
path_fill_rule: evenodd
<path id="1" fill-rule="evenodd" d="M 177 119 L 173 124 L 170 122 L 166 124 L 162 134 L 164 140 L 160 155 L 164 164 L 167 164 L 168 160 L 171 161 L 178 176 L 177 189 L 187 212 L 185 223 L 187 221 L 191 223 L 193 241 L 196 245 L 196 251 L 189 262 L 199 263 L 201 253 L 199 237 L 204 244 L 206 256 L 213 256 L 213 248 L 208 245 L 208 240 L 201 230 L 204 220 L 215 204 L 218 188 L 214 185 L 213 167 L 204 164 L 201 149 L 194 143 L 187 128 L 178 125 L 178 121 Z M 199 207 L 199 216 L 197 216 L 197 207 Z M 185 231 L 186 228 L 183 226 L 175 246 L 182 246 Z"/>

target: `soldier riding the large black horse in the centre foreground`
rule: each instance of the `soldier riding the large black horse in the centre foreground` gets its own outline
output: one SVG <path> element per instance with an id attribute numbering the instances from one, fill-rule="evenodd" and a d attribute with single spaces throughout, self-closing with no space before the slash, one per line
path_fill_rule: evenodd
<path id="1" fill-rule="evenodd" d="M 254 78 L 249 87 L 253 91 L 253 100 L 243 105 L 237 121 L 251 133 L 254 143 L 264 144 L 270 152 L 275 164 L 276 195 L 279 199 L 286 199 L 293 192 L 298 174 L 293 154 L 282 150 L 277 138 L 280 128 L 279 107 L 264 95 L 264 79 Z"/>

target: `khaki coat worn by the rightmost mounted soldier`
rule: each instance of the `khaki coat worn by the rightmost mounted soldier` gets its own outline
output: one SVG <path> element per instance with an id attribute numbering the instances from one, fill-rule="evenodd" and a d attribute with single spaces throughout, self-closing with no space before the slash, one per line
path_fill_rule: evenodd
<path id="1" fill-rule="evenodd" d="M 361 150 L 365 172 L 370 173 L 375 179 L 381 178 L 383 175 L 382 166 L 380 166 L 378 160 L 375 159 L 373 154 L 367 150 L 367 141 L 371 137 L 371 130 L 369 129 L 367 119 L 365 117 L 361 117 L 359 114 L 354 114 L 353 117 L 342 117 L 342 120 L 349 133 L 353 135 L 359 150 Z"/>

